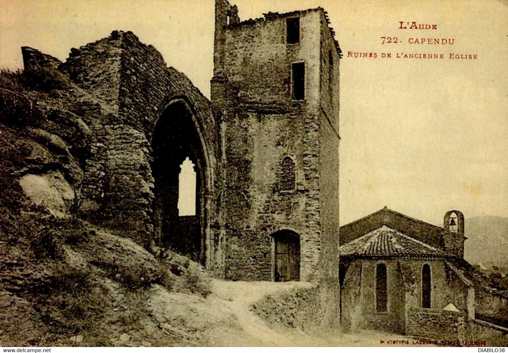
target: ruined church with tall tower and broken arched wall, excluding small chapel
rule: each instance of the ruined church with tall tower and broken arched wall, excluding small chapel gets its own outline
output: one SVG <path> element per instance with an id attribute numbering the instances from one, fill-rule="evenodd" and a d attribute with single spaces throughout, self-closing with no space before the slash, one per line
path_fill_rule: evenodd
<path id="1" fill-rule="evenodd" d="M 65 62 L 22 53 L 26 72 L 67 75 L 96 100 L 78 99 L 93 136 L 81 217 L 217 277 L 338 296 L 341 51 L 322 8 L 241 21 L 216 0 L 211 101 L 131 32 Z"/>

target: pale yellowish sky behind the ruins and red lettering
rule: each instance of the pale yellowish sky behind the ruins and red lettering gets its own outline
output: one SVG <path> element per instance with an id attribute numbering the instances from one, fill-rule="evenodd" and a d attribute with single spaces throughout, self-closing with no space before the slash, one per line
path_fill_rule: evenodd
<path id="1" fill-rule="evenodd" d="M 321 6 L 340 63 L 340 223 L 387 205 L 433 224 L 508 217 L 508 5 L 497 0 L 232 1 L 240 18 Z M 213 0 L 0 0 L 0 66 L 21 67 L 20 46 L 65 60 L 71 47 L 134 32 L 209 97 Z M 399 30 L 399 21 L 437 30 Z M 380 37 L 399 43 L 381 44 Z M 453 45 L 410 38 L 455 39 Z M 442 53 L 444 59 L 353 58 L 347 52 Z M 478 54 L 450 60 L 449 53 Z"/>

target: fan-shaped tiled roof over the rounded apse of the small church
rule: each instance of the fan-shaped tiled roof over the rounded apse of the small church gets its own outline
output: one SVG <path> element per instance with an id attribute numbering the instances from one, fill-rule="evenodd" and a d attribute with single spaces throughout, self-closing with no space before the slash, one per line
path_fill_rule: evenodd
<path id="1" fill-rule="evenodd" d="M 386 225 L 339 248 L 346 257 L 454 257 Z"/>

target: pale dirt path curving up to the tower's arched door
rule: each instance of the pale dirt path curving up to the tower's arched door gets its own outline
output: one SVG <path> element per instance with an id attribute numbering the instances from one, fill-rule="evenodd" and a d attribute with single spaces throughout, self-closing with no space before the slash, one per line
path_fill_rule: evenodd
<path id="1" fill-rule="evenodd" d="M 253 303 L 267 295 L 294 288 L 309 288 L 304 282 L 212 281 L 212 294 L 170 292 L 161 286 L 151 289 L 146 301 L 148 316 L 142 330 L 128 332 L 131 345 L 148 341 L 153 346 L 383 346 L 381 341 L 411 338 L 375 331 L 355 334 L 310 335 L 299 329 L 274 326 L 250 311 Z M 120 344 L 121 345 L 121 344 Z M 145 344 L 143 344 L 145 345 Z"/>

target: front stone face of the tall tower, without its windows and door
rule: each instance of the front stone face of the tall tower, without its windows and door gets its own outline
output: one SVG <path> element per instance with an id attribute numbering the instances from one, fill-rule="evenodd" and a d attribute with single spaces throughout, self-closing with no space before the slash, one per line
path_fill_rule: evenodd
<path id="1" fill-rule="evenodd" d="M 302 40 L 285 43 L 285 17 L 227 26 L 224 81 L 212 100 L 226 110 L 227 277 L 271 279 L 271 235 L 297 232 L 301 280 L 317 281 L 321 251 L 319 191 L 319 15 L 301 17 Z M 291 63 L 306 63 L 306 101 L 291 100 Z M 226 98 L 228 97 L 228 98 Z M 284 157 L 296 187 L 279 188 Z"/>

